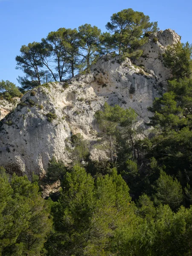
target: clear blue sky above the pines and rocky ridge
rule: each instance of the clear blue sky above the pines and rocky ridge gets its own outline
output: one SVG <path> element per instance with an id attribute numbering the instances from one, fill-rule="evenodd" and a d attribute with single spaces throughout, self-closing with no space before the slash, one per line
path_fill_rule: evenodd
<path id="1" fill-rule="evenodd" d="M 84 23 L 105 31 L 111 15 L 128 8 L 144 12 L 160 29 L 174 29 L 182 42 L 192 44 L 191 0 L 0 0 L 0 80 L 19 85 L 17 76 L 22 73 L 15 70 L 15 56 L 23 44 Z"/>

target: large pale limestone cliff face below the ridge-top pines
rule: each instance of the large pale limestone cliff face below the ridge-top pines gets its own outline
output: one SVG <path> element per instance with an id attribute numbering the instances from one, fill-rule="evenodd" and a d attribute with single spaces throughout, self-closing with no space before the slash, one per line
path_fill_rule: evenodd
<path id="1" fill-rule="evenodd" d="M 158 38 L 156 43 L 154 37 Z M 99 131 L 94 113 L 108 102 L 134 108 L 138 121 L 147 122 L 151 115 L 148 106 L 159 96 L 160 83 L 170 77 L 162 54 L 167 45 L 179 40 L 170 29 L 157 32 L 149 37 L 143 57 L 137 61 L 144 67 L 128 58 L 121 62 L 118 56 L 105 55 L 89 74 L 76 76 L 68 84 L 49 83 L 26 93 L 15 111 L 3 119 L 0 165 L 10 173 L 26 174 L 29 179 L 32 172 L 43 176 L 53 156 L 66 163 L 71 161 L 67 148 L 71 135 L 77 133 L 90 141 L 93 159 L 107 157 L 94 147 Z M 55 113 L 55 119 L 48 119 L 48 113 Z"/>

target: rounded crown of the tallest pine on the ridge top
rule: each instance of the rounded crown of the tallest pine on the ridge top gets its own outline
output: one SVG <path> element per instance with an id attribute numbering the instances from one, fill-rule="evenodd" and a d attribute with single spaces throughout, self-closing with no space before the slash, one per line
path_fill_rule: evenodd
<path id="1" fill-rule="evenodd" d="M 111 22 L 108 22 L 106 28 L 113 32 L 113 45 L 120 53 L 128 53 L 127 56 L 141 55 L 142 51 L 135 50 L 138 46 L 146 43 L 144 37 L 146 32 L 156 32 L 157 22 L 150 22 L 149 16 L 143 12 L 134 12 L 133 9 L 125 9 L 114 13 L 111 16 Z"/>

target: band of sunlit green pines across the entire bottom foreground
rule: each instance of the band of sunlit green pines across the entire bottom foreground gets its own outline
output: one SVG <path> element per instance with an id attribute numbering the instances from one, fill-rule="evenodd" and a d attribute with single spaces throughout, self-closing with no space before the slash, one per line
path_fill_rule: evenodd
<path id="1" fill-rule="evenodd" d="M 50 165 L 54 169 L 55 160 Z M 114 168 L 96 179 L 80 166 L 67 170 L 63 164 L 63 169 L 59 199 L 49 204 L 54 230 L 50 200 L 38 195 L 37 183 L 16 175 L 9 183 L 1 170 L 2 256 L 191 255 L 192 208 L 174 213 L 167 205 L 182 199 L 176 180 L 161 172 L 156 197 L 166 205 L 155 207 L 145 194 L 130 203 L 129 188 Z"/>

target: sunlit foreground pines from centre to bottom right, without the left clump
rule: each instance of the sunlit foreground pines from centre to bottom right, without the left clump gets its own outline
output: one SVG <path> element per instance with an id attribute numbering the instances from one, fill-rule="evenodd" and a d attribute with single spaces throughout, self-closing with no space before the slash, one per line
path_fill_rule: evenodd
<path id="1" fill-rule="evenodd" d="M 94 180 L 75 166 L 62 188 L 52 207 L 55 233 L 45 245 L 48 255 L 190 255 L 191 208 L 174 214 L 167 205 L 155 208 L 147 195 L 130 204 L 116 169 Z"/>

